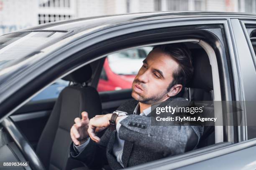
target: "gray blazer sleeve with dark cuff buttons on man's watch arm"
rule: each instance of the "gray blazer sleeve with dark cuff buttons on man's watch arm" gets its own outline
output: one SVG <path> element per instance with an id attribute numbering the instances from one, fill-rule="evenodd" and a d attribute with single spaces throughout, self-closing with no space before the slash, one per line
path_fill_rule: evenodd
<path id="1" fill-rule="evenodd" d="M 184 153 L 193 133 L 196 147 L 202 133 L 202 127 L 196 126 L 151 126 L 151 117 L 139 115 L 129 115 L 120 124 L 120 139 L 168 155 Z"/>

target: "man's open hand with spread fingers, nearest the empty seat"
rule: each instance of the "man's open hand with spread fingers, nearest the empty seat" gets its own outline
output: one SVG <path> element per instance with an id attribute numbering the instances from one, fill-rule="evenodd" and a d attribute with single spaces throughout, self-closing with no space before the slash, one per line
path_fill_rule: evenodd
<path id="1" fill-rule="evenodd" d="M 82 112 L 81 115 L 82 119 L 79 117 L 74 119 L 75 124 L 70 130 L 70 136 L 75 145 L 82 145 L 89 137 L 87 132 L 89 125 L 88 113 Z"/>

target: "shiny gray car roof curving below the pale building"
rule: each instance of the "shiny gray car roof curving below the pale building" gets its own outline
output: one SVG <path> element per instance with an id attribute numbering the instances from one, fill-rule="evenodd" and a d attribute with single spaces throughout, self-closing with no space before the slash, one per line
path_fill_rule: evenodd
<path id="1" fill-rule="evenodd" d="M 41 24 L 35 27 L 23 29 L 21 31 L 31 30 L 59 30 L 82 32 L 87 29 L 106 25 L 108 27 L 133 23 L 136 21 L 147 21 L 156 19 L 174 19 L 174 18 L 256 18 L 252 13 L 224 13 L 224 12 L 151 12 L 151 13 L 130 13 L 121 15 L 104 15 L 89 18 L 79 18 L 72 20 L 63 20 L 53 23 Z M 68 25 L 68 26 L 67 26 Z M 20 31 L 17 31 L 20 32 Z"/>

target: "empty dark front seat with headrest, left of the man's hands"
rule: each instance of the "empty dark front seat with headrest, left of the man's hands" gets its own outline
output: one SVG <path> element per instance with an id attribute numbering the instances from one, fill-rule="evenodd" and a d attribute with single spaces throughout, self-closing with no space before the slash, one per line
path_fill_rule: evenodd
<path id="1" fill-rule="evenodd" d="M 70 128 L 75 117 L 81 118 L 82 111 L 87 111 L 89 118 L 102 113 L 97 90 L 83 86 L 91 76 L 92 70 L 90 65 L 87 65 L 63 78 L 75 84 L 61 91 L 36 148 L 39 158 L 49 170 L 81 166 L 78 161 L 68 158 L 69 145 L 72 142 Z"/>

